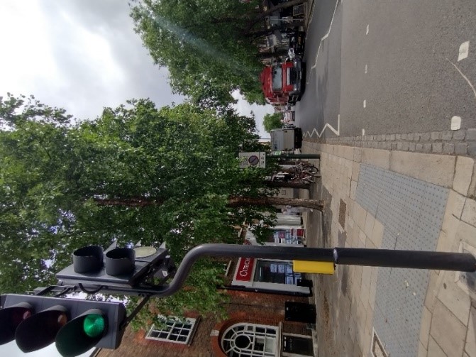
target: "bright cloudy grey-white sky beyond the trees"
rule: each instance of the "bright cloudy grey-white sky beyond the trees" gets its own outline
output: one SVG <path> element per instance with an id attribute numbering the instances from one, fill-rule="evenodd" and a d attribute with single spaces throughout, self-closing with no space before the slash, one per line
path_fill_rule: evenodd
<path id="1" fill-rule="evenodd" d="M 181 102 L 128 13 L 126 0 L 1 0 L 0 95 L 33 94 L 79 119 L 131 98 L 149 97 L 157 106 Z M 271 106 L 240 100 L 236 109 L 253 110 L 260 136 L 269 137 L 261 121 Z"/>

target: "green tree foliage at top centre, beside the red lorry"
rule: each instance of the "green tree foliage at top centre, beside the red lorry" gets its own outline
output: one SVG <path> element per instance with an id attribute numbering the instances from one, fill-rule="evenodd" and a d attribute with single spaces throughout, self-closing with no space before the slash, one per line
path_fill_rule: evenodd
<path id="1" fill-rule="evenodd" d="M 196 102 L 215 99 L 223 104 L 233 101 L 230 93 L 239 89 L 248 101 L 265 104 L 257 46 L 244 33 L 258 4 L 145 0 L 132 7 L 131 16 L 155 63 L 170 71 L 176 92 Z"/>

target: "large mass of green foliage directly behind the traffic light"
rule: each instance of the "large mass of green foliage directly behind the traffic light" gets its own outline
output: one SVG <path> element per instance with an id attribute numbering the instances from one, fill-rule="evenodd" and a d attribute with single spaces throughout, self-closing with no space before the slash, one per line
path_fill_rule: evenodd
<path id="1" fill-rule="evenodd" d="M 240 243 L 233 225 L 271 223 L 258 206 L 228 205 L 231 195 L 274 190 L 262 185 L 266 170 L 239 169 L 238 148 L 260 147 L 253 118 L 230 109 L 135 100 L 75 123 L 62 109 L 9 96 L 0 128 L 1 292 L 54 283 L 81 246 L 165 241 L 179 262 L 200 243 Z M 161 306 L 218 312 L 219 268 L 200 261 L 188 293 Z"/>

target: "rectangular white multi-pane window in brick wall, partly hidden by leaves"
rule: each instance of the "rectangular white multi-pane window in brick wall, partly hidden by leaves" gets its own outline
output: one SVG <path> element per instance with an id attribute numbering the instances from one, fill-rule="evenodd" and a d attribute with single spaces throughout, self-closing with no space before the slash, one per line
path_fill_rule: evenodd
<path id="1" fill-rule="evenodd" d="M 177 344 L 190 344 L 194 334 L 197 319 L 178 319 L 177 317 L 165 317 L 159 315 L 162 326 L 152 325 L 146 339 L 175 342 Z"/>

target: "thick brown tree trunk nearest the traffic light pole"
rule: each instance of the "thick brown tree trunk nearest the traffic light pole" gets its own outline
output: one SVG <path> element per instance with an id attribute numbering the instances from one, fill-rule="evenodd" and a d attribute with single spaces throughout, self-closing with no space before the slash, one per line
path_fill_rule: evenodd
<path id="1" fill-rule="evenodd" d="M 284 197 L 228 197 L 228 207 L 246 206 L 291 206 L 319 209 L 322 211 L 324 205 L 316 199 L 284 198 Z"/>

